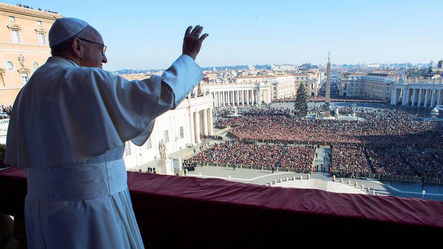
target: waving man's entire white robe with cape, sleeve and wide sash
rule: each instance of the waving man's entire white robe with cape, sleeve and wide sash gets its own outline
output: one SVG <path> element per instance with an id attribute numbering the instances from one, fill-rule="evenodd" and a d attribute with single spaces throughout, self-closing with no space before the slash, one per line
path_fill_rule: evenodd
<path id="1" fill-rule="evenodd" d="M 124 143 L 144 144 L 202 78 L 187 55 L 141 81 L 49 57 L 18 94 L 6 139 L 5 163 L 27 167 L 28 247 L 143 248 Z"/>

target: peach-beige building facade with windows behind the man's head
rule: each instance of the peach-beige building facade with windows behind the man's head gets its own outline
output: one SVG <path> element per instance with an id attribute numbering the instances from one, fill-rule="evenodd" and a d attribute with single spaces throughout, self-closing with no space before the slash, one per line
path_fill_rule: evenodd
<path id="1" fill-rule="evenodd" d="M 11 105 L 50 56 L 48 32 L 59 14 L 0 3 L 0 104 Z"/>

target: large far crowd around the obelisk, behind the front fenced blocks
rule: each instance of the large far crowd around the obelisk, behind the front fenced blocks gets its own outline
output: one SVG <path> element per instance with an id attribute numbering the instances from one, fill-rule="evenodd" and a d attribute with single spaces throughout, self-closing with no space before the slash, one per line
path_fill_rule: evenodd
<path id="1" fill-rule="evenodd" d="M 362 111 L 361 121 L 296 120 L 278 115 L 256 115 L 221 118 L 215 126 L 233 127 L 230 133 L 240 140 L 278 141 L 291 143 L 362 143 L 394 147 L 437 146 L 443 137 L 438 123 L 414 121 L 406 113 L 383 109 Z"/>

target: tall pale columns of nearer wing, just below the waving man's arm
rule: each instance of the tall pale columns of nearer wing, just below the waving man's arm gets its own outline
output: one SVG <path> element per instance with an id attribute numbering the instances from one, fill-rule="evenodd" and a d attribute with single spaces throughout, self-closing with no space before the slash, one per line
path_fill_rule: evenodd
<path id="1" fill-rule="evenodd" d="M 191 127 L 191 140 L 196 144 L 201 143 L 202 135 L 214 134 L 212 127 L 212 108 L 191 111 L 189 123 Z"/>

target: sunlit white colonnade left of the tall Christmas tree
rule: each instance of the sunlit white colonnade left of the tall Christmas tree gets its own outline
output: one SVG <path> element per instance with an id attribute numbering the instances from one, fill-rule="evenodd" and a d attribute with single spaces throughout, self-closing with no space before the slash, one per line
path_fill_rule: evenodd
<path id="1" fill-rule="evenodd" d="M 262 102 L 270 103 L 271 96 L 267 89 L 221 90 L 212 91 L 213 106 L 253 105 Z"/>

